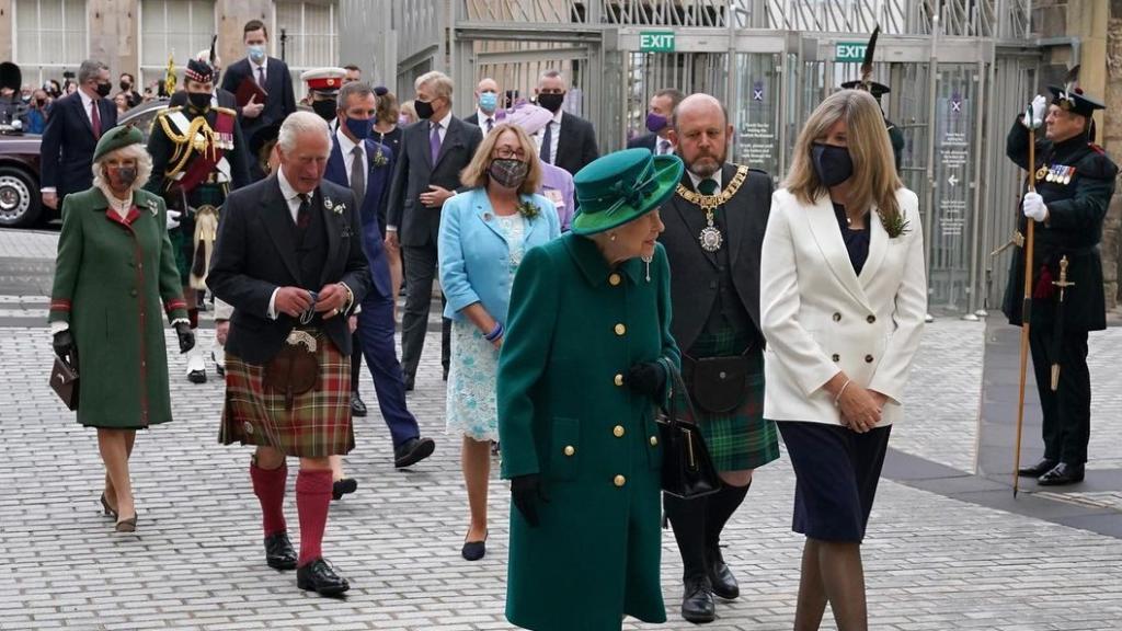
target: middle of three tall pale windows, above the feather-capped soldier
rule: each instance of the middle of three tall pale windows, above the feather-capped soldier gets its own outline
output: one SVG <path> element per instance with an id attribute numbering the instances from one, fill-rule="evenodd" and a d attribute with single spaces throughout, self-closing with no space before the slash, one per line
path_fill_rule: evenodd
<path id="1" fill-rule="evenodd" d="M 163 82 L 167 58 L 174 55 L 178 89 L 187 60 L 210 48 L 217 33 L 214 0 L 140 0 L 139 24 L 140 83 Z"/>

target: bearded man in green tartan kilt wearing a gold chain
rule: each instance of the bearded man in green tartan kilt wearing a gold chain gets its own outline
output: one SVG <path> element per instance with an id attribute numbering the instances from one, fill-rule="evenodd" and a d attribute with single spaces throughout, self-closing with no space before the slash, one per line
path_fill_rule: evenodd
<path id="1" fill-rule="evenodd" d="M 760 252 L 771 207 L 766 173 L 725 162 L 733 127 L 708 94 L 674 110 L 671 137 L 686 163 L 664 205 L 660 241 L 673 276 L 671 331 L 721 490 L 706 497 L 664 495 L 684 566 L 682 618 L 716 619 L 714 595 L 739 595 L 720 554 L 720 531 L 744 501 L 752 470 L 779 457 L 775 424 L 763 418 Z"/>

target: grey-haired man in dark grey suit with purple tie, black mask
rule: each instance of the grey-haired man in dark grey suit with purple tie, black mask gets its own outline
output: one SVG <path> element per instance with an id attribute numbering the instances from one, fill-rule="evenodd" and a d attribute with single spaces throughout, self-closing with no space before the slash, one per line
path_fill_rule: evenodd
<path id="1" fill-rule="evenodd" d="M 476 155 L 482 132 L 452 116 L 452 80 L 441 72 L 417 77 L 413 104 L 416 125 L 405 128 L 394 167 L 386 219 L 386 245 L 405 254 L 405 312 L 402 314 L 402 364 L 405 390 L 413 390 L 424 347 L 436 275 L 436 235 L 444 201 L 456 194 L 460 171 Z M 451 326 L 441 331 L 441 364 L 448 378 Z"/>

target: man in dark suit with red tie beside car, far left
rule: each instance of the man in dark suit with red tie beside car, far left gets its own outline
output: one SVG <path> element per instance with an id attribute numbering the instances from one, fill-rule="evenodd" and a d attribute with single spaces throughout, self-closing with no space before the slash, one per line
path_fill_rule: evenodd
<path id="1" fill-rule="evenodd" d="M 40 190 L 48 208 L 93 185 L 93 149 L 101 132 L 117 125 L 117 106 L 105 98 L 112 88 L 109 66 L 86 60 L 77 71 L 77 91 L 52 106 L 39 146 Z"/>

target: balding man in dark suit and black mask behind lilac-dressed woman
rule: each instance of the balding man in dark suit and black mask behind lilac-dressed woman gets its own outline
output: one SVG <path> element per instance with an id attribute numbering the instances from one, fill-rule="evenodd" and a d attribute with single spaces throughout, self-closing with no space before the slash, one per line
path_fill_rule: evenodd
<path id="1" fill-rule="evenodd" d="M 576 175 L 586 164 L 600 157 L 592 124 L 562 109 L 568 91 L 564 76 L 549 70 L 537 80 L 537 104 L 553 112 L 553 120 L 537 132 L 539 156 Z"/>

